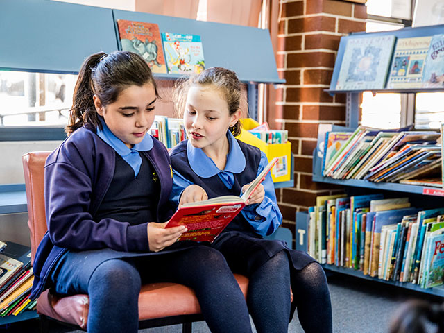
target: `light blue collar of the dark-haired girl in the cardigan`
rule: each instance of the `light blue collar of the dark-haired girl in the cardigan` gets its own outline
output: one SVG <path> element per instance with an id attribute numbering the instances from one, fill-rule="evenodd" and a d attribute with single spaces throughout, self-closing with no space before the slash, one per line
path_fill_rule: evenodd
<path id="1" fill-rule="evenodd" d="M 121 141 L 121 139 L 116 137 L 111 132 L 110 128 L 106 126 L 105 121 L 101 117 L 99 117 L 99 119 L 102 123 L 103 129 L 101 130 L 98 126 L 97 135 L 99 135 L 104 142 L 112 146 L 114 151 L 117 151 L 123 160 L 130 164 L 130 167 L 132 167 L 134 170 L 134 176 L 137 177 L 142 164 L 142 157 L 140 157 L 139 151 L 150 151 L 151 148 L 153 148 L 153 137 L 147 134 L 145 135 L 144 139 L 142 139 L 142 142 L 135 144 L 133 148 L 128 148 L 126 144 Z"/>

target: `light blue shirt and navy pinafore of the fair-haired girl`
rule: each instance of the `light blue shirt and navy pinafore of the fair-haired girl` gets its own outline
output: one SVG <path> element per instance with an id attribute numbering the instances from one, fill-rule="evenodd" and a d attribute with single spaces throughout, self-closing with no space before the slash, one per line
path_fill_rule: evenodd
<path id="1" fill-rule="evenodd" d="M 173 148 L 170 152 L 173 200 L 178 202 L 183 189 L 192 184 L 205 189 L 208 198 L 240 196 L 242 186 L 252 182 L 268 164 L 266 155 L 259 148 L 235 139 L 230 131 L 227 138 L 230 151 L 224 170 L 219 170 L 210 157 L 187 140 Z M 234 273 L 250 276 L 282 250 L 289 257 L 290 273 L 300 271 L 315 260 L 305 252 L 290 249 L 284 241 L 263 238 L 279 227 L 282 214 L 276 203 L 273 180 L 269 173 L 262 185 L 265 191 L 262 203 L 244 207 L 211 246 L 223 253 Z M 294 307 L 291 314 L 293 311 Z"/>

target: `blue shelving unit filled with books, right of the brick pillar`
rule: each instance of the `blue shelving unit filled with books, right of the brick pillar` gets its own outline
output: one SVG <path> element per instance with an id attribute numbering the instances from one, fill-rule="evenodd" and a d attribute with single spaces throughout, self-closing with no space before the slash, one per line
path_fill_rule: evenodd
<path id="1" fill-rule="evenodd" d="M 356 96 L 444 91 L 443 28 L 341 37 L 327 92 L 348 94 L 350 127 L 319 126 L 313 180 L 347 194 L 316 198 L 296 221 L 326 269 L 437 296 L 444 296 L 443 128 L 359 126 Z"/>

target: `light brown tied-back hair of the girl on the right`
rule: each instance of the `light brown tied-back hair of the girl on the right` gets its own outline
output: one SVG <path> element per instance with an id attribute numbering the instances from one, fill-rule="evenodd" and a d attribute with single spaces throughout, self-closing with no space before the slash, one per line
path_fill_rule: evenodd
<path id="1" fill-rule="evenodd" d="M 193 85 L 201 85 L 202 87 L 212 86 L 221 92 L 225 97 L 225 101 L 227 101 L 230 115 L 239 110 L 242 97 L 242 85 L 236 73 L 223 67 L 211 67 L 200 72 L 200 74 L 196 74 L 185 80 L 179 80 L 176 83 L 173 92 L 173 101 L 178 117 L 183 116 L 188 90 Z M 234 136 L 241 134 L 241 122 L 237 121 L 234 126 L 230 127 L 230 132 Z"/>

